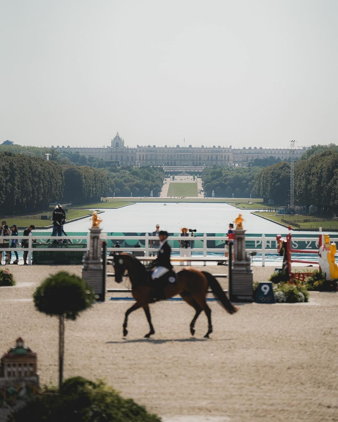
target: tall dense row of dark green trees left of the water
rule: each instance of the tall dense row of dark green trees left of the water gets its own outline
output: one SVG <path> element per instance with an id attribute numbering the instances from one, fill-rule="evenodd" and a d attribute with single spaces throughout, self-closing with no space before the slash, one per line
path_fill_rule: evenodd
<path id="1" fill-rule="evenodd" d="M 64 200 L 85 203 L 109 194 L 109 176 L 104 170 L 25 154 L 0 153 L 0 213 L 14 214 L 46 208 Z"/>

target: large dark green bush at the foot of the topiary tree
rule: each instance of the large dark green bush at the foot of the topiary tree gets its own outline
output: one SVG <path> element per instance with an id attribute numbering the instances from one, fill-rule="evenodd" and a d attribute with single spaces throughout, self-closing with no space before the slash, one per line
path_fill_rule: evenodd
<path id="1" fill-rule="evenodd" d="M 161 422 L 131 399 L 124 399 L 103 381 L 82 377 L 66 380 L 60 394 L 41 394 L 8 419 L 10 422 Z"/>

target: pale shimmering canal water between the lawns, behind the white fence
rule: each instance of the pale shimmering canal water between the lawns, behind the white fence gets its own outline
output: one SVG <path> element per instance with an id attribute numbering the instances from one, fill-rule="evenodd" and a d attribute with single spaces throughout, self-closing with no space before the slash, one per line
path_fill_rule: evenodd
<path id="1" fill-rule="evenodd" d="M 252 211 L 252 210 L 251 210 Z M 181 227 L 196 229 L 199 233 L 227 232 L 229 223 L 238 214 L 244 218 L 247 233 L 284 234 L 287 228 L 239 210 L 229 204 L 213 203 L 135 203 L 122 208 L 106 209 L 100 217 L 104 232 L 152 232 L 159 224 L 162 230 L 179 232 Z M 90 219 L 82 219 L 65 225 L 67 232 L 87 232 Z M 301 232 L 305 234 L 316 232 Z"/>

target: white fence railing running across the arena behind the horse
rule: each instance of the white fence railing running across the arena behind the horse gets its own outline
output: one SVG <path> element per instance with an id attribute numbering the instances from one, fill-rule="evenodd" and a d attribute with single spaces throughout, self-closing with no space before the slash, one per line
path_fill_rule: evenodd
<path id="1" fill-rule="evenodd" d="M 150 247 L 150 241 L 158 241 L 158 237 L 156 236 L 151 236 L 148 233 L 146 233 L 143 236 L 138 236 L 138 235 L 130 235 L 130 236 L 125 236 L 125 235 L 114 235 L 114 236 L 108 236 L 107 233 L 101 233 L 100 235 L 101 240 L 102 241 L 122 241 L 122 240 L 142 240 L 144 241 L 144 246 L 139 247 L 139 248 L 133 248 L 133 247 L 129 247 L 129 246 L 125 246 L 125 247 L 120 247 L 118 248 L 118 250 L 120 252 L 144 252 L 144 256 L 147 257 L 149 256 L 150 252 L 157 252 L 157 246 L 155 246 L 154 248 Z M 22 248 L 21 246 L 17 247 L 16 249 L 9 247 L 11 245 L 11 241 L 14 239 L 18 239 L 18 241 L 20 240 L 24 240 L 27 239 L 28 240 L 28 246 L 26 248 Z M 67 252 L 67 250 L 69 251 L 68 248 L 53 248 L 52 244 L 49 243 L 49 246 L 46 247 L 39 247 L 38 249 L 34 249 L 33 248 L 33 243 L 35 239 L 39 240 L 39 241 L 43 241 L 42 244 L 44 244 L 46 241 L 55 241 L 55 240 L 71 240 L 73 243 L 75 244 L 80 244 L 83 240 L 87 241 L 87 249 L 89 246 L 89 241 L 90 241 L 90 233 L 88 233 L 86 236 L 81 236 L 81 235 L 71 235 L 71 236 L 46 236 L 46 235 L 39 235 L 38 233 L 30 233 L 29 236 L 23 236 L 23 235 L 18 235 L 18 236 L 0 236 L 0 252 L 1 254 L 3 253 L 3 251 L 10 251 L 10 252 L 14 252 L 14 250 L 16 250 L 17 252 L 21 251 L 21 252 L 28 252 L 27 254 L 27 260 L 28 260 L 28 264 L 32 263 L 32 252 L 35 250 L 36 252 L 42 252 L 42 251 L 46 251 L 46 252 Z M 3 241 L 9 241 L 8 243 L 3 243 Z M 220 240 L 229 240 L 229 238 L 227 236 L 208 236 L 206 233 L 204 233 L 203 236 L 194 236 L 194 237 L 181 237 L 181 236 L 169 236 L 168 240 L 180 240 L 180 241 L 202 241 L 203 242 L 203 246 L 202 248 L 193 248 L 192 252 L 199 252 L 199 254 L 202 252 L 202 257 L 207 257 L 207 254 L 210 252 L 219 252 L 222 253 L 222 251 L 224 251 L 224 249 L 221 248 L 210 248 L 207 247 L 207 241 L 208 240 L 214 240 L 214 241 L 220 241 Z M 262 235 L 257 235 L 257 236 L 248 236 L 246 238 L 247 241 L 254 241 L 255 245 L 256 244 L 261 244 L 262 247 L 261 249 L 259 248 L 252 248 L 252 249 L 246 249 L 247 252 L 258 252 L 258 253 L 262 253 L 262 266 L 264 267 L 265 265 L 265 257 L 266 254 L 277 254 L 277 243 L 275 241 L 275 238 L 272 237 L 266 237 L 266 235 L 262 234 Z M 317 241 L 318 241 L 318 236 L 313 236 L 313 237 L 297 237 L 294 238 L 294 240 L 297 241 L 315 241 L 316 242 L 316 246 L 318 245 Z M 338 235 L 333 235 L 331 236 L 331 240 L 332 241 L 338 241 Z M 275 243 L 275 247 L 272 248 L 271 246 L 273 246 Z M 40 243 L 41 244 L 41 243 Z M 7 246 L 8 245 L 8 246 Z M 268 247 L 267 247 L 268 245 Z M 107 248 L 108 252 L 111 251 L 116 251 L 117 248 Z M 313 253 L 317 253 L 318 249 L 310 249 L 308 248 L 309 251 L 313 250 Z M 172 252 L 179 252 L 180 248 L 172 248 Z M 198 255 L 198 257 L 200 258 L 201 255 Z M 187 257 L 188 258 L 188 257 Z M 190 257 L 189 257 L 190 258 Z M 196 256 L 197 258 L 197 256 Z M 187 259 L 188 261 L 193 261 L 194 260 L 194 254 L 192 254 L 190 259 Z M 221 260 L 221 257 L 220 257 Z"/>

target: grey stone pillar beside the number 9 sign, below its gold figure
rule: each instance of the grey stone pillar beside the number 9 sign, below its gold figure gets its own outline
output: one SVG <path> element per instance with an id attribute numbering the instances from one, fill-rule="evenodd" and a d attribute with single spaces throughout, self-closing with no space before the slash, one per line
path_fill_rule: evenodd
<path id="1" fill-rule="evenodd" d="M 232 298 L 234 302 L 252 302 L 253 273 L 251 260 L 245 251 L 245 231 L 238 228 L 234 231 L 234 262 L 232 269 Z"/>

